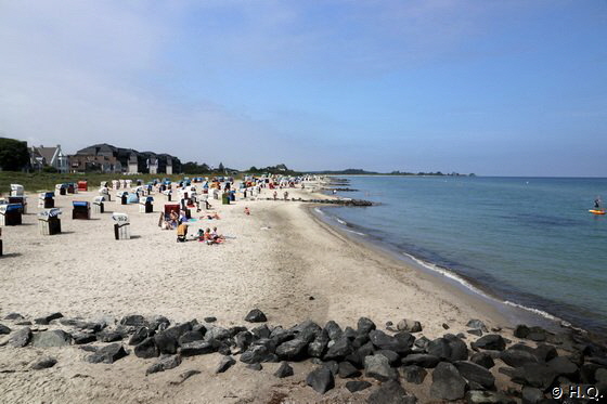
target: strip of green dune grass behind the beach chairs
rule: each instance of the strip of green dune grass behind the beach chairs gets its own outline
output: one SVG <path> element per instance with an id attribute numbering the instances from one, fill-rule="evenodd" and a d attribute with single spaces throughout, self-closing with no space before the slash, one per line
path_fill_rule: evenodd
<path id="1" fill-rule="evenodd" d="M 107 181 L 112 184 L 112 180 L 143 180 L 143 183 L 147 183 L 154 179 L 169 178 L 171 181 L 180 181 L 184 177 L 195 178 L 195 177 L 208 177 L 209 179 L 216 175 L 223 175 L 220 173 L 206 173 L 206 174 L 135 174 L 135 175 L 124 175 L 124 174 L 102 174 L 102 173 L 49 173 L 49 172 L 15 172 L 15 171 L 0 171 L 0 195 L 9 195 L 11 191 L 11 184 L 21 184 L 24 186 L 27 193 L 38 193 L 38 192 L 51 192 L 55 191 L 55 185 L 64 182 L 78 182 L 88 181 L 89 186 L 100 186 L 102 181 Z"/>

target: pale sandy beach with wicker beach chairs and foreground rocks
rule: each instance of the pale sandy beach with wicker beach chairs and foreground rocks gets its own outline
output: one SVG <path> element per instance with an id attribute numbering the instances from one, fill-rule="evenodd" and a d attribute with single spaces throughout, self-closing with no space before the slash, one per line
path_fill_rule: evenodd
<path id="1" fill-rule="evenodd" d="M 307 190 L 289 193 L 310 197 Z M 220 205 L 215 200 L 212 211 L 221 219 L 199 220 L 190 226 L 192 234 L 198 227 L 217 225 L 228 236 L 223 245 L 207 246 L 196 240 L 176 243 L 175 231 L 157 226 L 166 201 L 159 194 L 154 195 L 154 213 L 140 213 L 137 205 L 113 200 L 106 203 L 105 213 L 93 213 L 92 220 L 72 220 L 72 200 L 92 200 L 95 195 L 96 190 L 91 190 L 55 198 L 63 210 L 61 235 L 39 235 L 35 195 L 29 195 L 24 225 L 3 227 L 0 318 L 11 312 L 28 320 L 61 312 L 67 318 L 113 323 L 128 314 L 160 314 L 172 323 L 193 318 L 202 323 L 206 316 L 216 316 L 216 325 L 230 327 L 247 325 L 243 317 L 258 308 L 269 324 L 283 327 L 305 320 L 323 326 L 333 320 L 341 327 L 356 328 L 358 318 L 365 316 L 385 330 L 387 322 L 418 320 L 424 329 L 415 336 L 429 339 L 466 333 L 466 323 L 479 318 L 517 341 L 512 336 L 515 324 L 491 305 L 345 237 L 317 219 L 310 204 L 237 199 Z M 270 195 L 264 190 L 259 199 Z M 245 207 L 250 216 L 244 213 Z M 129 214 L 132 239 L 114 239 L 112 211 Z M 9 321 L 0 323 L 20 328 Z M 56 322 L 31 327 L 69 330 Z M 468 342 L 477 338 L 466 337 Z M 126 340 L 124 344 L 132 349 Z M 88 354 L 78 346 L 0 347 L 2 402 L 357 403 L 365 402 L 373 390 L 352 394 L 344 388 L 347 380 L 336 378 L 335 389 L 320 395 L 306 386 L 306 375 L 314 366 L 310 361 L 293 363 L 295 375 L 285 379 L 272 376 L 277 363 L 263 364 L 261 372 L 255 372 L 238 362 L 217 375 L 214 369 L 221 355 L 214 353 L 184 357 L 175 369 L 146 376 L 154 360 L 130 354 L 114 364 L 91 364 L 83 361 Z M 44 355 L 55 357 L 57 364 L 29 370 L 29 364 Z M 509 386 L 496 368 L 491 369 L 496 385 Z M 176 385 L 178 375 L 190 369 L 201 373 Z M 403 386 L 419 402 L 427 402 L 430 379 Z"/>

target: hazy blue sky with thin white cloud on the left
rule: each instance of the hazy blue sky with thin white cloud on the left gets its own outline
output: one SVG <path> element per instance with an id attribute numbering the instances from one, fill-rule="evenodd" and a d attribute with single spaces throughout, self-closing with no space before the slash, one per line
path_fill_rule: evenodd
<path id="1" fill-rule="evenodd" d="M 607 177 L 607 1 L 0 0 L 0 136 Z"/>

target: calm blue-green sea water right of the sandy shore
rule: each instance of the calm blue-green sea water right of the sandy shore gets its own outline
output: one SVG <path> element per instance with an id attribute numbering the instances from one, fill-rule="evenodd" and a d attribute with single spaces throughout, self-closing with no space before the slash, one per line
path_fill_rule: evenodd
<path id="1" fill-rule="evenodd" d="M 607 179 L 347 177 L 382 205 L 327 208 L 365 237 L 503 301 L 607 335 Z"/>

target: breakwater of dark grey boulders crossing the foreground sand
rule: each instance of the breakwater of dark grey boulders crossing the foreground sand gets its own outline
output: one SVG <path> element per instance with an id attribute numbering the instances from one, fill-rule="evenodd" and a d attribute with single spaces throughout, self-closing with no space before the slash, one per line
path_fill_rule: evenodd
<path id="1" fill-rule="evenodd" d="M 77 347 L 93 364 L 134 355 L 146 375 L 177 368 L 190 356 L 216 353 L 220 354 L 216 374 L 233 366 L 263 372 L 264 363 L 280 363 L 273 377 L 288 378 L 294 375 L 290 363 L 310 361 L 315 367 L 306 385 L 319 396 L 343 378 L 349 380 L 344 394 L 370 389 L 360 393 L 367 394 L 369 403 L 416 403 L 408 391 L 413 385 L 426 386 L 426 396 L 437 402 L 552 403 L 553 391 L 569 392 L 571 386 L 582 385 L 586 396 L 607 394 L 607 349 L 574 330 L 551 333 L 518 325 L 509 336 L 470 320 L 467 334 L 429 339 L 421 336 L 421 322 L 406 318 L 396 325 L 388 322 L 385 331 L 366 317 L 345 328 L 334 321 L 324 326 L 312 321 L 290 328 L 271 326 L 258 309 L 244 321 L 246 326 L 223 328 L 215 324 L 216 317 L 171 324 L 162 315 L 86 321 L 52 313 L 30 321 L 11 313 L 0 324 L 0 347 Z M 56 364 L 56 359 L 42 355 L 25 372 Z M 0 368 L 11 372 L 15 370 Z M 175 383 L 198 374 L 182 373 Z M 499 380 L 496 375 L 503 377 Z"/>

